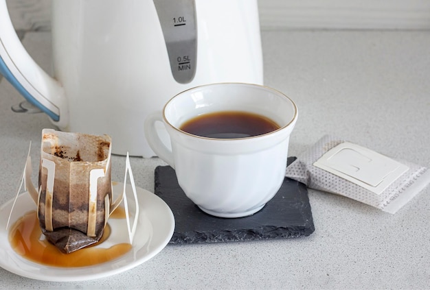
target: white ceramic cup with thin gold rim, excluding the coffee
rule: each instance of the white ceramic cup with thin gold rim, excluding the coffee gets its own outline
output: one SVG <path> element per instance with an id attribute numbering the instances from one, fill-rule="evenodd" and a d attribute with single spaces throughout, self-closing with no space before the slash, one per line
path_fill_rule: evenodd
<path id="1" fill-rule="evenodd" d="M 180 130 L 210 112 L 245 111 L 269 117 L 280 129 L 246 138 L 206 138 Z M 278 192 L 285 176 L 288 142 L 297 106 L 278 90 L 256 84 L 208 84 L 176 95 L 163 112 L 145 121 L 152 150 L 176 171 L 179 186 L 201 210 L 217 217 L 258 212 Z M 161 121 L 171 148 L 159 136 Z"/>

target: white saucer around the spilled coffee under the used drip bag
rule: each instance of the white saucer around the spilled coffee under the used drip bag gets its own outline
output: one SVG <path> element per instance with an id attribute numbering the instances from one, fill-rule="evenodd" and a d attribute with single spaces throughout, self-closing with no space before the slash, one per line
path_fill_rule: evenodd
<path id="1" fill-rule="evenodd" d="M 122 191 L 124 184 L 121 182 L 114 184 L 113 195 L 116 195 L 118 191 Z M 130 187 L 127 186 L 127 195 L 133 196 Z M 128 190 L 132 193 L 128 193 Z M 113 261 L 89 267 L 52 267 L 34 263 L 17 254 L 10 245 L 9 232 L 6 231 L 6 222 L 13 200 L 6 202 L 0 207 L 0 267 L 27 278 L 66 282 L 112 276 L 148 261 L 163 250 L 170 241 L 174 231 L 174 217 L 169 206 L 157 195 L 139 187 L 136 187 L 136 190 L 139 200 L 139 221 L 132 249 Z M 129 206 L 131 203 L 134 204 L 128 198 Z M 36 205 L 27 192 L 22 193 L 16 200 L 10 225 L 30 210 L 36 210 Z M 109 225 L 112 228 L 111 237 L 100 246 L 124 241 L 124 237 L 128 237 L 126 230 L 124 233 L 126 226 L 124 227 L 124 223 L 117 224 L 118 221 L 123 219 L 109 219 Z"/>

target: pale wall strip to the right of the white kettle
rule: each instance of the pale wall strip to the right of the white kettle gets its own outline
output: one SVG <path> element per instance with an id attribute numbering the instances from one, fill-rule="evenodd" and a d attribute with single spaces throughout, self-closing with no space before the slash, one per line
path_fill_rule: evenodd
<path id="1" fill-rule="evenodd" d="M 259 0 L 267 28 L 429 29 L 429 0 Z"/>

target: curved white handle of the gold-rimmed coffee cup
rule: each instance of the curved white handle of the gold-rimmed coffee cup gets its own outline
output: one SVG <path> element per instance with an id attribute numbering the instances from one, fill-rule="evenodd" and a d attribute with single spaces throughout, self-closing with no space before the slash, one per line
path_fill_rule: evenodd
<path id="1" fill-rule="evenodd" d="M 163 141 L 161 141 L 157 128 L 155 128 L 155 123 L 157 121 L 160 121 L 164 126 L 166 126 L 163 122 L 163 115 L 161 112 L 153 112 L 146 117 L 144 123 L 146 141 L 148 141 L 148 144 L 155 154 L 166 161 L 168 165 L 174 169 L 172 150 L 170 150 L 166 145 L 164 145 Z"/>

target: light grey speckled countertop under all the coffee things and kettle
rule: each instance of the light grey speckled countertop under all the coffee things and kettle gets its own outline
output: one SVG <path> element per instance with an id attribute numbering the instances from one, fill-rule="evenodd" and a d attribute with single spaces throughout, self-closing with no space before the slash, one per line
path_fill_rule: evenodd
<path id="1" fill-rule="evenodd" d="M 50 66 L 50 34 L 23 40 Z M 430 166 L 430 32 L 263 31 L 265 84 L 297 103 L 289 155 L 324 134 Z M 29 142 L 38 160 L 44 114 L 18 114 L 23 98 L 0 82 L 0 204 L 14 196 Z M 113 156 L 113 180 L 124 178 Z M 153 191 L 158 158 L 131 159 L 138 186 Z M 430 284 L 430 188 L 395 215 L 309 191 L 315 232 L 300 239 L 168 245 L 122 274 L 44 282 L 0 268 L 1 289 L 425 289 Z M 0 229 L 3 230 L 3 229 Z"/>

